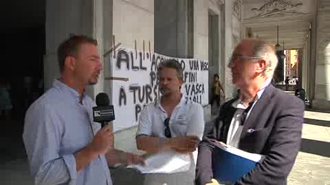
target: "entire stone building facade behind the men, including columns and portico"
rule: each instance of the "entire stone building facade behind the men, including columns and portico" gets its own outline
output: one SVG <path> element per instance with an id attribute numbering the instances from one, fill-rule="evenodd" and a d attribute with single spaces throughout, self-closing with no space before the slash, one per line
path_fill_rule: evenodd
<path id="1" fill-rule="evenodd" d="M 120 43 L 139 51 L 207 60 L 208 88 L 217 73 L 230 99 L 236 89 L 227 66 L 234 46 L 242 38 L 262 38 L 276 44 L 279 25 L 285 49 L 298 49 L 301 56 L 299 82 L 311 106 L 330 110 L 329 10 L 327 0 L 47 0 L 45 89 L 59 76 L 59 43 L 70 34 L 87 34 L 98 40 L 101 54 Z M 91 97 L 104 91 L 111 93 L 104 74 L 87 90 Z M 204 106 L 204 110 L 210 118 L 210 106 Z M 116 147 L 135 151 L 135 130 L 129 127 L 118 131 Z M 122 140 L 132 145 L 122 145 Z"/>

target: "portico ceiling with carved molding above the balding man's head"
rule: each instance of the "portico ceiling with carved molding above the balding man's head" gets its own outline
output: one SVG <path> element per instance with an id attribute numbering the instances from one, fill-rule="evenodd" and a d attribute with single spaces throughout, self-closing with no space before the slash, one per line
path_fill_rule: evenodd
<path id="1" fill-rule="evenodd" d="M 251 28 L 253 36 L 276 44 L 278 25 L 278 42 L 283 47 L 284 41 L 285 49 L 303 47 L 317 10 L 315 0 L 243 0 L 242 3 L 243 27 Z"/>

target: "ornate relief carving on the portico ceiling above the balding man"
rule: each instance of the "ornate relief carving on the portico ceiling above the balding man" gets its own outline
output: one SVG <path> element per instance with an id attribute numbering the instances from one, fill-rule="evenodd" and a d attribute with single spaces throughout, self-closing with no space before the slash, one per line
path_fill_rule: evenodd
<path id="1" fill-rule="evenodd" d="M 262 18 L 270 16 L 287 16 L 287 15 L 300 15 L 304 14 L 297 12 L 296 8 L 303 3 L 290 3 L 287 0 L 272 0 L 269 3 L 261 6 L 261 8 L 252 8 L 256 16 L 251 18 Z"/>

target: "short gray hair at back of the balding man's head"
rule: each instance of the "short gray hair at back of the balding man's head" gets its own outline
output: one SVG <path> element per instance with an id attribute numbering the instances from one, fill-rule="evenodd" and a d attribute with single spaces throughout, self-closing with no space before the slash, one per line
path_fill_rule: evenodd
<path id="1" fill-rule="evenodd" d="M 278 58 L 275 53 L 274 45 L 266 43 L 264 40 L 255 40 L 253 47 L 253 56 L 266 61 L 266 68 L 263 71 L 264 77 L 273 77 Z"/>

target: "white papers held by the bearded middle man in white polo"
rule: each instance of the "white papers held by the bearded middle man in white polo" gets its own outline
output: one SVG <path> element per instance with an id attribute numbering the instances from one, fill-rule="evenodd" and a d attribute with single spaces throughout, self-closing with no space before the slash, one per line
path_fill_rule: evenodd
<path id="1" fill-rule="evenodd" d="M 144 165 L 129 165 L 128 168 L 135 168 L 141 173 L 178 173 L 188 171 L 190 168 L 190 154 L 166 151 L 148 157 L 144 160 L 144 163 Z"/>

